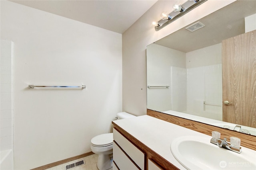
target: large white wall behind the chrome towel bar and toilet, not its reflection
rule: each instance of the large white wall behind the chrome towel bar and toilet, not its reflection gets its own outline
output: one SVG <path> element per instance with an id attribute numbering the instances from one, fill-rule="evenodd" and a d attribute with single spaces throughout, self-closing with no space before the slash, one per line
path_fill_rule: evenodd
<path id="1" fill-rule="evenodd" d="M 122 111 L 122 35 L 1 1 L 1 39 L 14 42 L 14 168 L 90 152 Z"/>

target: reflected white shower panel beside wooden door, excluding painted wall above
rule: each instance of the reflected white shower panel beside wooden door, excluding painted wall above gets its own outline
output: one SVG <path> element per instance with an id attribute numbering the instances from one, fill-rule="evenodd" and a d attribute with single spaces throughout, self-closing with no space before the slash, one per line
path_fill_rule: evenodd
<path id="1" fill-rule="evenodd" d="M 188 68 L 187 84 L 187 113 L 222 120 L 222 64 Z"/>

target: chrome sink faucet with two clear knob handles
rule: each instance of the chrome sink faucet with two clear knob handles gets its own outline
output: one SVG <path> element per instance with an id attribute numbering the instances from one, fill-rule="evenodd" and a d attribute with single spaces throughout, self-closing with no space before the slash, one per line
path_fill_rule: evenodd
<path id="1" fill-rule="evenodd" d="M 230 137 L 230 141 L 231 141 L 231 138 L 233 138 L 235 140 L 238 139 L 238 138 L 235 138 L 235 137 Z M 237 142 L 237 141 L 235 141 L 235 142 Z M 211 139 L 210 143 L 213 143 L 214 145 L 217 145 L 218 147 L 222 147 L 222 148 L 225 148 L 225 149 L 228 149 L 228 150 L 232 150 L 232 151 L 237 152 L 237 153 L 242 152 L 242 148 L 240 147 L 240 139 L 239 139 L 239 145 L 237 145 L 237 144 L 233 145 L 233 143 L 228 142 L 226 138 L 220 139 L 220 137 L 218 137 L 216 139 L 214 139 L 214 137 L 213 137 Z M 236 146 L 236 147 L 234 147 L 234 146 Z"/>

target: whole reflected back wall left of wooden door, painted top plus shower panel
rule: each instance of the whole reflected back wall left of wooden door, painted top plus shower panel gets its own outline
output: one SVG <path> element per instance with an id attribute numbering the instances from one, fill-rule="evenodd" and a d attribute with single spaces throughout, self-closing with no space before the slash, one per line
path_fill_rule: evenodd
<path id="1" fill-rule="evenodd" d="M 221 43 L 186 53 L 187 113 L 222 120 L 221 63 Z"/>

